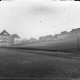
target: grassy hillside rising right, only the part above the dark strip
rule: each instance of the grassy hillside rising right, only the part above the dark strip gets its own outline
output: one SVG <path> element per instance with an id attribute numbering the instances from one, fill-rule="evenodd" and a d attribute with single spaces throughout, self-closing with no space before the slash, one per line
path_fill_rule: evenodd
<path id="1" fill-rule="evenodd" d="M 54 50 L 73 51 L 74 49 L 75 50 L 79 49 L 79 44 L 77 42 L 77 39 L 73 38 L 73 39 L 44 42 L 40 44 L 33 44 L 33 45 L 28 45 L 27 47 L 33 47 L 36 49 L 51 50 L 51 51 L 54 51 Z"/>

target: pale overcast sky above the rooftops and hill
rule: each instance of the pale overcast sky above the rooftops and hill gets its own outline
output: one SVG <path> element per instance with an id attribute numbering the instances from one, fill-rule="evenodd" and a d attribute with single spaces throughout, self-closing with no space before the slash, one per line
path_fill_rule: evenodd
<path id="1" fill-rule="evenodd" d="M 80 2 L 12 0 L 0 2 L 0 32 L 39 38 L 80 27 Z"/>

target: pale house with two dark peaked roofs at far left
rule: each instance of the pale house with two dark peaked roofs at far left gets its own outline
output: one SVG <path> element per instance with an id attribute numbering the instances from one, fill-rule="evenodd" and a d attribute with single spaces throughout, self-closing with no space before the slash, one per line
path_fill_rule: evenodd
<path id="1" fill-rule="evenodd" d="M 6 30 L 3 30 L 0 33 L 0 46 L 10 46 L 15 44 L 15 39 L 20 39 L 20 37 L 16 34 L 15 36 L 9 34 Z M 16 44 L 19 42 L 17 41 Z"/>

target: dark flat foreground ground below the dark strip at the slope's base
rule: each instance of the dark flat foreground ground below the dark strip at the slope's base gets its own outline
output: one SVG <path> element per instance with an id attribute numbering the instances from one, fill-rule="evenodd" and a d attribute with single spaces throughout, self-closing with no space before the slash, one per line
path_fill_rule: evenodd
<path id="1" fill-rule="evenodd" d="M 42 53 L 45 54 L 42 55 Z M 49 80 L 76 80 L 80 78 L 79 58 L 49 56 L 46 55 L 47 53 L 49 54 L 47 51 L 20 51 L 1 48 L 0 78 L 47 78 Z M 51 52 L 51 54 L 55 54 L 55 52 Z"/>

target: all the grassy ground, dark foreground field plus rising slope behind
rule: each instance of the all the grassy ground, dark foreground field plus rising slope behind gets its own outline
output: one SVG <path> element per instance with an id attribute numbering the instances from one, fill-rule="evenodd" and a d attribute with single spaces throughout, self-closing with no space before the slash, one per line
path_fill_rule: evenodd
<path id="1" fill-rule="evenodd" d="M 79 53 L 75 37 L 1 48 L 0 78 L 80 79 Z"/>

